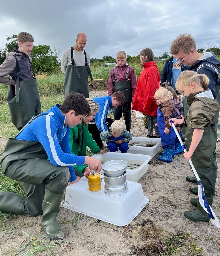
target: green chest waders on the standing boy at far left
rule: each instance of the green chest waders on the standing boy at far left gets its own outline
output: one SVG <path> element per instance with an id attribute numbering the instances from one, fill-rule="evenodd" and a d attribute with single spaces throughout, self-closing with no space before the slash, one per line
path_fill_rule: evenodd
<path id="1" fill-rule="evenodd" d="M 34 79 L 24 81 L 21 78 L 22 74 L 17 58 L 15 57 L 15 59 L 17 68 L 16 95 L 14 95 L 14 86 L 8 86 L 7 102 L 10 109 L 11 121 L 18 130 L 21 130 L 33 116 L 41 113 L 41 104 L 38 85 L 32 67 L 31 71 Z"/>

